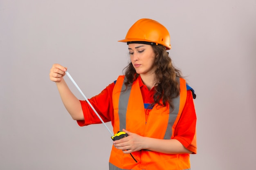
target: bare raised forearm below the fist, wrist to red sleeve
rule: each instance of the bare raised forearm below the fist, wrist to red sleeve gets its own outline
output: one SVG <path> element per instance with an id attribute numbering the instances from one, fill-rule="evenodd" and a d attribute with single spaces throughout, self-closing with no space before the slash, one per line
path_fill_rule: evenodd
<path id="1" fill-rule="evenodd" d="M 83 120 L 83 110 L 79 99 L 70 91 L 64 79 L 61 82 L 56 82 L 58 91 L 61 96 L 61 100 L 70 113 L 72 119 L 74 120 Z"/>

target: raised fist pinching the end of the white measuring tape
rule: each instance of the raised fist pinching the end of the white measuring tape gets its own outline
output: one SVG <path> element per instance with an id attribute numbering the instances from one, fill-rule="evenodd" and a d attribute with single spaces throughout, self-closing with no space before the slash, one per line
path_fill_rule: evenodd
<path id="1" fill-rule="evenodd" d="M 61 82 L 62 77 L 66 74 L 67 67 L 63 67 L 60 64 L 53 64 L 50 70 L 50 80 L 53 82 Z"/>

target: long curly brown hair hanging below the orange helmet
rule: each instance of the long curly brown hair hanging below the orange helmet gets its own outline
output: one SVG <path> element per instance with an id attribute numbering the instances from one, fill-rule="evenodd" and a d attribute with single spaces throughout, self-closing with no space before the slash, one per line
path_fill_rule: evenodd
<path id="1" fill-rule="evenodd" d="M 159 106 L 165 107 L 169 104 L 171 108 L 174 108 L 172 99 L 180 95 L 180 85 L 176 77 L 183 78 L 182 73 L 178 68 L 173 66 L 171 57 L 168 56 L 165 46 L 160 44 L 151 46 L 157 56 L 154 64 L 157 83 L 154 88 L 154 103 L 151 106 L 158 104 Z M 131 62 L 124 68 L 124 71 L 126 77 L 124 84 L 127 88 L 132 85 L 139 74 L 136 73 Z"/>

